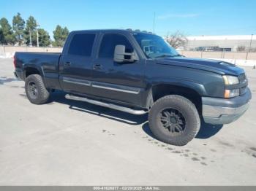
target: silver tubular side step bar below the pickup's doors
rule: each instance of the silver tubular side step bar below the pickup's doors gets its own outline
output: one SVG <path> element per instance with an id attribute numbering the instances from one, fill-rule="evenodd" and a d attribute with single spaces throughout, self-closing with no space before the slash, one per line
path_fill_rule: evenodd
<path id="1" fill-rule="evenodd" d="M 105 107 L 108 107 L 110 109 L 116 109 L 118 111 L 127 112 L 129 114 L 146 114 L 147 113 L 147 111 L 144 111 L 144 110 L 130 109 L 129 107 L 118 106 L 118 105 L 115 105 L 115 104 L 108 104 L 108 103 L 105 103 L 105 102 L 102 102 L 102 101 L 96 101 L 96 100 L 93 100 L 93 99 L 79 97 L 79 96 L 75 96 L 75 95 L 66 94 L 65 98 L 70 99 L 70 100 L 76 100 L 76 101 L 85 101 L 85 102 L 88 102 L 90 104 L 94 104 L 94 105 L 98 105 L 98 106 L 105 106 Z"/>

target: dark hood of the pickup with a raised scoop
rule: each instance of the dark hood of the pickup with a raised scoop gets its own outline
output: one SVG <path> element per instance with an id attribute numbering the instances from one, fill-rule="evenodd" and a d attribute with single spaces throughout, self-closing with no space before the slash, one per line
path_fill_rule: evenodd
<path id="1" fill-rule="evenodd" d="M 205 71 L 211 71 L 217 74 L 230 74 L 238 76 L 244 73 L 244 69 L 239 68 L 238 66 L 227 63 L 225 61 L 217 61 L 211 59 L 200 59 L 200 58 L 185 58 L 185 57 L 176 57 L 176 58 L 157 58 L 157 64 L 170 65 L 170 66 L 181 66 L 192 69 L 201 69 Z"/>

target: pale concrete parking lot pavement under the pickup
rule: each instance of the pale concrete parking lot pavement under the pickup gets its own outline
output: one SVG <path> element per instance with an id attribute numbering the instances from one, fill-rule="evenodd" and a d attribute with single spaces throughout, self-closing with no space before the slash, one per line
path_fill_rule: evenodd
<path id="1" fill-rule="evenodd" d="M 0 59 L 0 185 L 256 185 L 256 70 L 244 68 L 249 110 L 203 124 L 174 147 L 154 139 L 147 116 L 70 101 L 31 104 L 12 59 Z"/>

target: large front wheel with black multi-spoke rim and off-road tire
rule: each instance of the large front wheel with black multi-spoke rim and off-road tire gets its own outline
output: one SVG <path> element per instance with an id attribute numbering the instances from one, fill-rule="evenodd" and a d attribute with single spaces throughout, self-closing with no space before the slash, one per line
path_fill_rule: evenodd
<path id="1" fill-rule="evenodd" d="M 181 95 L 159 98 L 149 111 L 148 123 L 157 139 L 177 146 L 194 139 L 200 129 L 195 105 Z"/>

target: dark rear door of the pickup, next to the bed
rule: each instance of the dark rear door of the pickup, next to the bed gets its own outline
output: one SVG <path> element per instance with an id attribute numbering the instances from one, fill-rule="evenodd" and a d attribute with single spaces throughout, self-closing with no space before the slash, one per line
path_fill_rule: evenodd
<path id="1" fill-rule="evenodd" d="M 91 93 L 91 67 L 96 38 L 97 34 L 85 33 L 70 36 L 59 66 L 59 80 L 63 90 L 71 93 Z"/>

